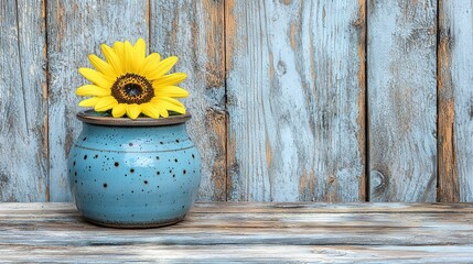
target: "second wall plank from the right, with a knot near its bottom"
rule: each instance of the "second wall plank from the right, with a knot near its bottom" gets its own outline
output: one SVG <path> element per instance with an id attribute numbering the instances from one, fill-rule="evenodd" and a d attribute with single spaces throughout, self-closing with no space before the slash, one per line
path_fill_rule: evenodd
<path id="1" fill-rule="evenodd" d="M 368 3 L 370 200 L 434 201 L 437 1 Z"/>

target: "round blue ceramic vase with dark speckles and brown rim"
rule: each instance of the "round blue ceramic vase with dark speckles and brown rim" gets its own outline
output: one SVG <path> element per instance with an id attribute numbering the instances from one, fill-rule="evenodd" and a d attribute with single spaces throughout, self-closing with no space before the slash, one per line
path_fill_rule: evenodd
<path id="1" fill-rule="evenodd" d="M 77 209 L 94 223 L 151 228 L 185 217 L 201 182 L 201 158 L 185 122 L 77 114 L 83 130 L 68 157 Z"/>

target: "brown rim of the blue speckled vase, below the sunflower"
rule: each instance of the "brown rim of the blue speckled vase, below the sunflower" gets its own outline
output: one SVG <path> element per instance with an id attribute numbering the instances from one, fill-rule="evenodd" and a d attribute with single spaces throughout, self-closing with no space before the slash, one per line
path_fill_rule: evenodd
<path id="1" fill-rule="evenodd" d="M 136 120 L 129 118 L 112 118 L 101 116 L 100 113 L 89 109 L 80 111 L 76 114 L 77 119 L 84 123 L 98 124 L 98 125 L 110 125 L 110 127 L 163 127 L 172 124 L 185 123 L 191 119 L 190 113 L 170 116 L 169 118 L 138 118 Z"/>

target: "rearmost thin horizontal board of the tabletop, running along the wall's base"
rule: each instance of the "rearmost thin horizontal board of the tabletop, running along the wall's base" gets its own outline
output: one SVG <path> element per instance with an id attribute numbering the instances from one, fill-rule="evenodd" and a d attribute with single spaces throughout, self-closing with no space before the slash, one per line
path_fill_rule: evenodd
<path id="1" fill-rule="evenodd" d="M 473 213 L 473 204 L 400 204 L 400 202 L 366 202 L 366 204 L 332 204 L 332 202 L 196 202 L 193 213 Z M 34 212 L 34 213 L 33 213 Z M 33 216 L 34 215 L 34 216 Z M 65 217 L 77 215 L 72 204 L 0 204 L 0 218 L 9 216 L 44 217 L 44 215 Z"/>

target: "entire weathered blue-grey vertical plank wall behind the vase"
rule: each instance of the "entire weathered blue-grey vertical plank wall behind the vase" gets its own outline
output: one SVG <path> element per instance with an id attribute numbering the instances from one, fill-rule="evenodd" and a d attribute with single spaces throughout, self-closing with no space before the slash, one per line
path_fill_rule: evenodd
<path id="1" fill-rule="evenodd" d="M 71 200 L 77 67 L 179 55 L 200 200 L 473 201 L 471 0 L 0 0 L 0 200 Z"/>

